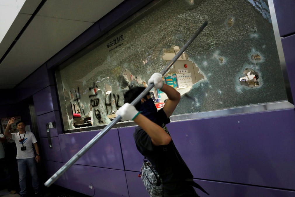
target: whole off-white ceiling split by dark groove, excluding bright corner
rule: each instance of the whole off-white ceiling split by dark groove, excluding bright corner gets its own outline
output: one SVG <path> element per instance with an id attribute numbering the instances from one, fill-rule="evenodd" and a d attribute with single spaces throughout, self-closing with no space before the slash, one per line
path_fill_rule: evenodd
<path id="1" fill-rule="evenodd" d="M 47 0 L 0 63 L 0 89 L 19 84 L 124 0 Z M 0 43 L 0 59 L 41 0 L 26 0 Z"/>

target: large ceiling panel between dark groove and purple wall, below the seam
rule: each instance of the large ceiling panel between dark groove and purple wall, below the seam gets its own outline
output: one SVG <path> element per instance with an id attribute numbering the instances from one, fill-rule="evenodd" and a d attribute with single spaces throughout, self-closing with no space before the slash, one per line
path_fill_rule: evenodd
<path id="1" fill-rule="evenodd" d="M 36 16 L 1 63 L 0 84 L 18 84 L 92 24 Z"/>

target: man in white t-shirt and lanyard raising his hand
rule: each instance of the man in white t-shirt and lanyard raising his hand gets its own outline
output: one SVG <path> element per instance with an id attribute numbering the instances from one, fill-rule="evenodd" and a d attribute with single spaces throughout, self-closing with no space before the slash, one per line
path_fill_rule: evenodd
<path id="1" fill-rule="evenodd" d="M 35 194 L 40 196 L 39 180 L 35 164 L 35 161 L 40 161 L 39 148 L 37 145 L 36 137 L 34 133 L 25 131 L 26 125 L 23 121 L 18 121 L 16 123 L 17 129 L 19 131 L 18 133 L 9 133 L 9 127 L 11 124 L 14 123 L 14 120 L 14 118 L 9 119 L 4 131 L 4 135 L 13 139 L 17 146 L 17 165 L 19 171 L 19 186 L 21 188 L 19 194 L 21 195 L 21 197 L 27 197 L 26 171 L 28 167 L 32 176 L 32 186 L 35 190 Z M 37 154 L 36 156 L 32 145 L 34 145 L 35 147 Z"/>

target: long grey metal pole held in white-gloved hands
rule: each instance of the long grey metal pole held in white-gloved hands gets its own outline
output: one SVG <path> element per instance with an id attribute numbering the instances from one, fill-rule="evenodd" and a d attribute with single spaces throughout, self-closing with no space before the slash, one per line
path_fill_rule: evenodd
<path id="1" fill-rule="evenodd" d="M 181 54 L 189 47 L 189 45 L 194 41 L 194 39 L 201 33 L 201 31 L 204 30 L 204 28 L 206 27 L 206 25 L 208 24 L 207 21 L 205 21 L 203 23 L 203 25 L 201 25 L 201 27 L 199 27 L 199 29 L 191 36 L 191 38 L 189 39 L 189 41 L 187 41 L 187 43 L 185 45 L 183 45 L 183 47 L 181 48 L 180 51 L 178 51 L 178 53 L 171 59 L 171 61 L 167 64 L 167 66 L 163 69 L 163 71 L 161 71 L 160 73 L 162 74 L 162 76 L 170 69 L 170 67 L 176 62 L 176 60 L 181 56 Z M 144 91 L 138 95 L 138 97 L 135 98 L 135 100 L 133 100 L 131 102 L 131 104 L 134 106 L 137 104 L 137 102 L 139 102 L 145 95 L 148 94 L 148 92 L 150 92 L 150 90 L 154 87 L 154 84 L 150 84 L 148 85 L 148 87 L 146 87 L 144 89 Z M 70 160 L 68 160 L 68 162 L 65 163 L 65 165 L 63 165 L 63 167 L 61 167 L 57 172 L 55 172 L 54 175 L 52 175 L 45 183 L 44 185 L 46 187 L 49 187 L 51 184 L 53 184 L 66 170 L 68 170 L 69 167 L 71 167 L 80 157 L 83 156 L 83 154 L 85 154 L 99 139 L 101 139 L 102 136 L 104 136 L 104 134 L 106 134 L 117 122 L 119 122 L 121 120 L 121 116 L 117 116 L 111 123 L 109 123 L 103 130 L 101 130 L 96 136 L 94 136 L 93 139 L 91 139 L 80 151 L 78 151 Z"/>

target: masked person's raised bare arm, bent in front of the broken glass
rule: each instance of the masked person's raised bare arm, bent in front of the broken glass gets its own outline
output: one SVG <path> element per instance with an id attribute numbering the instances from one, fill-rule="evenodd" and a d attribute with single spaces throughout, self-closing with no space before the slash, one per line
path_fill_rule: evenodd
<path id="1" fill-rule="evenodd" d="M 176 89 L 174 89 L 173 87 L 168 86 L 167 84 L 164 84 L 161 90 L 165 92 L 168 97 L 168 100 L 165 102 L 163 110 L 166 113 L 167 118 L 169 118 L 175 110 L 178 102 L 180 101 L 180 93 L 177 92 Z"/>

